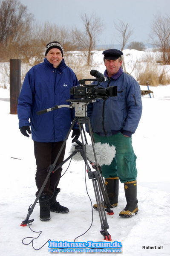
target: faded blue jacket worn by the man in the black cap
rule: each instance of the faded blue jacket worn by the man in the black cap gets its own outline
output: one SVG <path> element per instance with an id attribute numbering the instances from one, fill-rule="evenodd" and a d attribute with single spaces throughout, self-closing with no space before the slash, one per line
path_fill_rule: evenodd
<path id="1" fill-rule="evenodd" d="M 92 130 L 98 135 L 112 136 L 121 132 L 131 137 L 135 133 L 142 113 L 140 86 L 132 76 L 121 73 L 118 79 L 109 78 L 100 85 L 117 86 L 116 97 L 96 99 L 87 107 Z"/>

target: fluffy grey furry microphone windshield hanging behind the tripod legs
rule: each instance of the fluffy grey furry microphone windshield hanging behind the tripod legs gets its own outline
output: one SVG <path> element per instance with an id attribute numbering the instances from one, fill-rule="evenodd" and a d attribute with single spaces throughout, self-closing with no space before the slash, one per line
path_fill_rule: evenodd
<path id="1" fill-rule="evenodd" d="M 75 146 L 77 146 L 77 144 L 72 145 L 72 148 L 69 151 L 69 155 L 71 155 L 72 152 L 75 151 Z M 115 157 L 115 146 L 110 146 L 107 143 L 101 144 L 101 142 L 95 143 L 94 146 L 98 165 L 110 165 L 113 158 Z M 86 144 L 86 157 L 89 162 L 95 163 L 93 148 L 90 144 Z M 82 161 L 83 157 L 81 156 L 80 152 L 77 152 L 77 154 L 75 154 L 72 159 L 75 161 Z"/>

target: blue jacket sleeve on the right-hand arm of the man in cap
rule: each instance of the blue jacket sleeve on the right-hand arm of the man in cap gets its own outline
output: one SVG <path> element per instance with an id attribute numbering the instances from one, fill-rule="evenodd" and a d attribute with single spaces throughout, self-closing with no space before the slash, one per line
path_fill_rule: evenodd
<path id="1" fill-rule="evenodd" d="M 133 79 L 127 85 L 127 117 L 124 122 L 122 134 L 131 137 L 135 133 L 141 119 L 142 101 L 141 89 L 137 81 Z"/>

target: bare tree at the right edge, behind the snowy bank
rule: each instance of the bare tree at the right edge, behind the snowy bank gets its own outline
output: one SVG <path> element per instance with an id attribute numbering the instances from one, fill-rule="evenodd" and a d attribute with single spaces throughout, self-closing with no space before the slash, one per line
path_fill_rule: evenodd
<path id="1" fill-rule="evenodd" d="M 150 42 L 162 52 L 163 64 L 170 64 L 170 16 L 154 15 Z"/>

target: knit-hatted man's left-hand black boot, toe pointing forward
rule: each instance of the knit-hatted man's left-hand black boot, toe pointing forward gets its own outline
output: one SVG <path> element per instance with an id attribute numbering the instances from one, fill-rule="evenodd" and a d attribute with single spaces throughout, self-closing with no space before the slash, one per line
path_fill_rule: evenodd
<path id="1" fill-rule="evenodd" d="M 50 195 L 40 195 L 39 204 L 40 204 L 40 220 L 49 221 L 50 218 Z"/>

